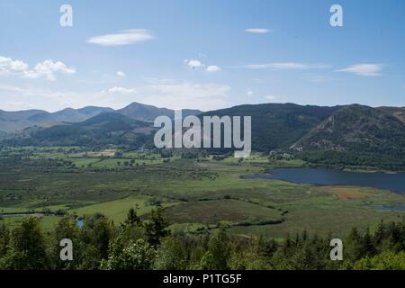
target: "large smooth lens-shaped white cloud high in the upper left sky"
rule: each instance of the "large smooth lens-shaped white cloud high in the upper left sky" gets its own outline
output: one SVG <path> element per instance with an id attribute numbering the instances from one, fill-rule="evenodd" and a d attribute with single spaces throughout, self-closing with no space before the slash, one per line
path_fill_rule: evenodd
<path id="1" fill-rule="evenodd" d="M 132 29 L 121 31 L 115 34 L 107 34 L 95 36 L 87 40 L 87 43 L 102 45 L 102 46 L 119 46 L 129 45 L 136 42 L 152 40 L 155 37 L 144 29 Z"/>

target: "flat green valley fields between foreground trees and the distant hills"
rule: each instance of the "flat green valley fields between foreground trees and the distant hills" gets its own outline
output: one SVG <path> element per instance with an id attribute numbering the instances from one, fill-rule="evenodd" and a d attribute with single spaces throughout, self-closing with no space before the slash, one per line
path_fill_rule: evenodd
<path id="1" fill-rule="evenodd" d="M 121 222 L 130 208 L 148 217 L 152 209 L 160 207 L 175 229 L 196 231 L 204 225 L 214 229 L 225 223 L 237 235 L 275 238 L 302 229 L 339 236 L 353 226 L 373 228 L 382 219 L 401 220 L 405 215 L 405 211 L 375 208 L 405 204 L 400 193 L 240 177 L 264 173 L 271 166 L 303 165 L 299 159 L 275 161 L 254 154 L 243 161 L 172 156 L 166 162 L 151 152 L 83 158 L 88 152 L 79 148 L 32 149 L 2 150 L 3 213 L 63 210 L 83 216 L 100 212 Z M 124 165 L 131 160 L 131 166 Z M 41 222 L 49 228 L 57 220 L 45 216 Z"/>

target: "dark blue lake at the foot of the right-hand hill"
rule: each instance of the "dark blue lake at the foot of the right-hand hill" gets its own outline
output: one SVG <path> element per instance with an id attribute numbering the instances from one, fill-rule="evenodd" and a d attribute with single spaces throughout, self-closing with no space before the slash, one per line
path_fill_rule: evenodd
<path id="1" fill-rule="evenodd" d="M 268 174 L 247 175 L 244 178 L 276 179 L 300 184 L 374 187 L 405 193 L 405 173 L 362 173 L 323 168 L 277 168 L 269 170 Z"/>

